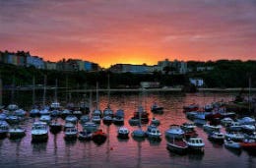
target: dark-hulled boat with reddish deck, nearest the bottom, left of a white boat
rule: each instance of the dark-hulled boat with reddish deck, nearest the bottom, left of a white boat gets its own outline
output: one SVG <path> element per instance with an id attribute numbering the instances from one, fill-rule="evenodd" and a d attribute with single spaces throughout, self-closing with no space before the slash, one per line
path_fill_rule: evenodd
<path id="1" fill-rule="evenodd" d="M 177 154 L 186 154 L 188 151 L 188 145 L 184 140 L 168 140 L 167 149 Z"/>

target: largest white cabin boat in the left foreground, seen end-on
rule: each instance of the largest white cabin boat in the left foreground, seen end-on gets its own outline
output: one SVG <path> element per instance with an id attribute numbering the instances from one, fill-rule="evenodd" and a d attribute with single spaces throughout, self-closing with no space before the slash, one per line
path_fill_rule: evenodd
<path id="1" fill-rule="evenodd" d="M 32 141 L 48 140 L 48 128 L 44 122 L 34 122 L 32 124 Z"/>

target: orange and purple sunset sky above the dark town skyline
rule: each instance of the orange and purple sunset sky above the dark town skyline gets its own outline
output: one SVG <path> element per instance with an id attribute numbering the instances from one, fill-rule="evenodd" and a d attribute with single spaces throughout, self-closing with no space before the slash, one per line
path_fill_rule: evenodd
<path id="1" fill-rule="evenodd" d="M 193 2 L 193 3 L 192 3 Z M 109 67 L 256 58 L 253 0 L 0 1 L 0 50 Z"/>

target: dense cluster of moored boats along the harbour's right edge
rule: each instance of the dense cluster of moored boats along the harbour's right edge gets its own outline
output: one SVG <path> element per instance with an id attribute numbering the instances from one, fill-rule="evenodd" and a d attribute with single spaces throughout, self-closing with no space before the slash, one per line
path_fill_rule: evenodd
<path id="1" fill-rule="evenodd" d="M 254 118 L 249 116 L 237 118 L 235 112 L 226 112 L 220 103 L 207 105 L 203 110 L 200 110 L 197 104 L 191 104 L 185 106 L 183 110 L 187 118 L 193 120 L 199 127 L 203 127 L 209 140 L 224 143 L 224 146 L 229 149 L 255 152 L 256 122 Z"/>

